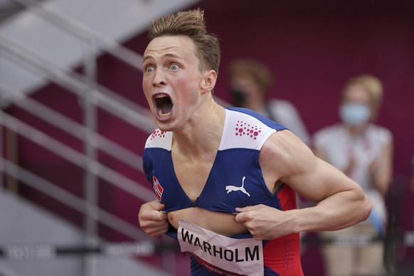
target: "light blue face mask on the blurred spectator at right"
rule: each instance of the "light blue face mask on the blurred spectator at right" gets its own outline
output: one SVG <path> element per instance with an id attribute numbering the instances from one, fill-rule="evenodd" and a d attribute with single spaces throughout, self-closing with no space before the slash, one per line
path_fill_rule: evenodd
<path id="1" fill-rule="evenodd" d="M 339 109 L 342 122 L 351 126 L 359 126 L 368 122 L 371 111 L 366 105 L 359 102 L 349 102 Z"/>

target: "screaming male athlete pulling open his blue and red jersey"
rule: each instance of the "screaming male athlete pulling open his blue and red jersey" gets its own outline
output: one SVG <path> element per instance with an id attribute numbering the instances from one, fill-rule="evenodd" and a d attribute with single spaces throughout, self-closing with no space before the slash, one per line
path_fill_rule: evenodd
<path id="1" fill-rule="evenodd" d="M 303 275 L 299 232 L 368 218 L 359 185 L 292 132 L 213 100 L 220 46 L 203 11 L 156 19 L 149 39 L 142 86 L 158 129 L 143 158 L 158 199 L 139 225 L 177 238 L 192 275 Z M 317 205 L 298 210 L 296 193 Z"/>

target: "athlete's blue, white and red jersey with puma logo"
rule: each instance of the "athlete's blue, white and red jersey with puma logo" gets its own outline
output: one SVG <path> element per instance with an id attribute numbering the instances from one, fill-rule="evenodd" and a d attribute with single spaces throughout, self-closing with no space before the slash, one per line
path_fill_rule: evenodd
<path id="1" fill-rule="evenodd" d="M 269 191 L 262 176 L 259 154 L 267 139 L 286 129 L 257 113 L 242 108 L 225 110 L 223 135 L 210 174 L 196 201 L 186 195 L 174 173 L 171 157 L 172 132 L 156 129 L 147 139 L 143 159 L 147 179 L 166 208 L 175 211 L 199 207 L 234 213 L 236 207 L 264 204 L 285 211 L 296 208 L 296 194 L 282 185 Z M 175 236 L 174 233 L 169 233 Z M 232 238 L 251 238 L 240 235 Z M 302 275 L 299 234 L 263 241 L 265 275 Z M 191 261 L 192 275 L 210 275 Z"/>

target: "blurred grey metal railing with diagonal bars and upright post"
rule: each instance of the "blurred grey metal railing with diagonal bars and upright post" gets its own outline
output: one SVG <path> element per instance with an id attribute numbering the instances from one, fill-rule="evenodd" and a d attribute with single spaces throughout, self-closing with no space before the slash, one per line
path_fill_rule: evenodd
<path id="1" fill-rule="evenodd" d="M 118 189 L 122 189 L 142 201 L 148 201 L 154 197 L 154 193 L 149 189 L 100 164 L 96 159 L 97 150 L 101 150 L 122 161 L 124 164 L 132 166 L 133 169 L 142 172 L 141 156 L 129 151 L 129 149 L 122 147 L 120 144 L 112 142 L 95 131 L 97 122 L 96 109 L 98 107 L 129 123 L 132 127 L 141 130 L 145 134 L 149 134 L 154 130 L 155 124 L 152 120 L 149 120 L 149 113 L 146 108 L 127 100 L 107 87 L 98 84 L 95 80 L 97 52 L 109 53 L 137 70 L 141 70 L 142 56 L 122 47 L 116 41 L 98 35 L 70 18 L 46 9 L 38 1 L 14 1 L 25 6 L 27 11 L 41 16 L 41 18 L 53 23 L 54 26 L 80 38 L 81 41 L 89 46 L 89 49 L 87 49 L 88 55 L 84 60 L 85 75 L 81 75 L 75 71 L 68 72 L 58 68 L 58 66 L 31 53 L 27 48 L 5 37 L 0 37 L 0 50 L 4 53 L 3 57 L 14 60 L 14 62 L 19 63 L 35 74 L 41 73 L 42 76 L 46 75 L 48 80 L 64 87 L 68 92 L 72 92 L 83 100 L 85 107 L 83 109 L 84 124 L 74 122 L 50 107 L 32 100 L 30 97 L 21 97 L 21 100 L 14 102 L 14 105 L 63 130 L 65 133 L 82 140 L 84 142 L 85 154 L 68 147 L 3 111 L 0 111 L 0 122 L 3 127 L 11 129 L 22 137 L 26 137 L 26 139 L 39 144 L 41 147 L 46 147 L 45 145 L 47 145 L 46 148 L 49 151 L 85 169 L 84 190 L 86 200 L 61 189 L 59 186 L 33 174 L 31 171 L 21 168 L 18 164 L 11 163 L 3 157 L 0 158 L 0 171 L 83 213 L 85 215 L 85 246 L 93 247 L 96 245 L 98 222 L 134 240 L 148 239 L 147 235 L 144 235 L 137 225 L 127 223 L 127 221 L 123 221 L 97 206 L 98 178 L 109 182 Z M 7 94 L 18 93 L 21 96 L 23 94 L 23 92 L 19 91 L 9 91 L 8 87 L 0 85 L 0 94 L 2 91 L 7 92 Z M 116 228 L 114 225 L 116 225 Z M 85 256 L 83 275 L 95 275 L 94 265 L 93 257 Z"/>

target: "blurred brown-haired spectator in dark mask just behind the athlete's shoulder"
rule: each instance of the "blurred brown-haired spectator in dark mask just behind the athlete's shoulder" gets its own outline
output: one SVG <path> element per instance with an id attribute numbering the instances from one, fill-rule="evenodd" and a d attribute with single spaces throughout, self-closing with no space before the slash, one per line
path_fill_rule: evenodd
<path id="1" fill-rule="evenodd" d="M 309 133 L 294 105 L 287 100 L 269 99 L 272 77 L 264 64 L 257 60 L 233 60 L 229 73 L 233 105 L 254 110 L 282 124 L 309 144 Z"/>

